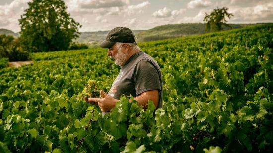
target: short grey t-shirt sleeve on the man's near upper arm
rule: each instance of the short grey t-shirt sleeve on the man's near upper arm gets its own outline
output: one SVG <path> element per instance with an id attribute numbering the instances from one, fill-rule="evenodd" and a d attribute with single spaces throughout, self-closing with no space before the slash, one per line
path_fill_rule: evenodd
<path id="1" fill-rule="evenodd" d="M 149 90 L 161 90 L 159 73 L 151 61 L 139 61 L 133 73 L 136 95 Z"/>

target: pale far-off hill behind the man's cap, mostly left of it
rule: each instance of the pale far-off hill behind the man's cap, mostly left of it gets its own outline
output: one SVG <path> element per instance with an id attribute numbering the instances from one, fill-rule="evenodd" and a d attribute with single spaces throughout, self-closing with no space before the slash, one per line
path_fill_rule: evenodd
<path id="1" fill-rule="evenodd" d="M 80 43 L 88 43 L 88 44 L 91 44 L 92 46 L 98 45 L 101 41 L 105 40 L 105 37 L 109 31 L 110 30 L 96 31 L 96 32 L 82 32 L 79 35 L 79 38 L 76 39 L 76 41 Z M 133 30 L 135 35 L 143 31 L 144 30 Z"/>

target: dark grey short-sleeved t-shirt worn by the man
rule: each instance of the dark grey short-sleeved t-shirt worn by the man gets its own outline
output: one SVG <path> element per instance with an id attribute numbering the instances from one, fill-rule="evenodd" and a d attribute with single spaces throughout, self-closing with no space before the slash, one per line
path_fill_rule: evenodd
<path id="1" fill-rule="evenodd" d="M 136 97 L 149 90 L 159 90 L 157 108 L 162 107 L 162 73 L 157 62 L 143 51 L 132 55 L 121 66 L 120 73 L 112 84 L 109 95 L 120 99 L 122 94 Z"/>

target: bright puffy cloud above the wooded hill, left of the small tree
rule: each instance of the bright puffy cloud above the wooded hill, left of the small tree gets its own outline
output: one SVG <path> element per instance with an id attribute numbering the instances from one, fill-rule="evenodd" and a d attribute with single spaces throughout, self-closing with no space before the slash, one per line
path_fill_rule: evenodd
<path id="1" fill-rule="evenodd" d="M 156 18 L 174 18 L 180 14 L 183 14 L 185 11 L 186 9 L 170 10 L 169 8 L 164 7 L 163 9 L 153 12 L 152 16 Z"/>

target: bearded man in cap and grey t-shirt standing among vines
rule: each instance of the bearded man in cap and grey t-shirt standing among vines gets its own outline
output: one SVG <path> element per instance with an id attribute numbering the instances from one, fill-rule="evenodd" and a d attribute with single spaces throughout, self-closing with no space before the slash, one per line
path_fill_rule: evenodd
<path id="1" fill-rule="evenodd" d="M 120 96 L 125 94 L 132 95 L 144 109 L 147 108 L 148 100 L 154 103 L 155 108 L 162 107 L 162 74 L 159 65 L 140 50 L 129 28 L 114 28 L 100 46 L 108 48 L 107 55 L 121 69 L 108 94 L 101 90 L 101 98 L 86 98 L 86 102 L 98 105 L 102 112 L 109 112 Z"/>

